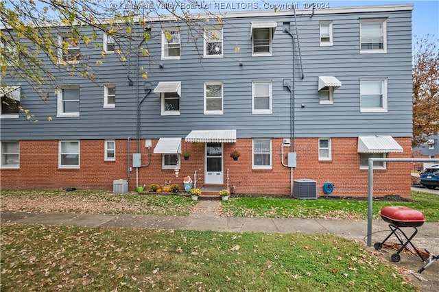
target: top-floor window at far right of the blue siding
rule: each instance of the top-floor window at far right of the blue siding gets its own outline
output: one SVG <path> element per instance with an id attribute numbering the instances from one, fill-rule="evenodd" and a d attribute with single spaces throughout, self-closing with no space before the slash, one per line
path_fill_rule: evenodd
<path id="1" fill-rule="evenodd" d="M 382 19 L 363 19 L 360 27 L 360 53 L 387 51 L 386 23 Z"/>

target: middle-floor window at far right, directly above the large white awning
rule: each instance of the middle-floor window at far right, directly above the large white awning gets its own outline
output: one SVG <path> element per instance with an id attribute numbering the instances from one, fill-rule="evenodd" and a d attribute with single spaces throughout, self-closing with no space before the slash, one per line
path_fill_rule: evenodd
<path id="1" fill-rule="evenodd" d="M 387 112 L 387 79 L 361 78 L 361 112 Z"/>

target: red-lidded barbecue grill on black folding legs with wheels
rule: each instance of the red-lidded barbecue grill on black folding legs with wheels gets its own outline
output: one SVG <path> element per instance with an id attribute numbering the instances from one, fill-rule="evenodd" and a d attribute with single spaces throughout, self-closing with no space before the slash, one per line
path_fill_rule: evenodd
<path id="1" fill-rule="evenodd" d="M 384 207 L 381 209 L 380 212 L 381 218 L 389 223 L 389 227 L 392 230 L 392 232 L 384 239 L 381 243 L 375 243 L 373 245 L 375 247 L 375 250 L 381 250 L 381 247 L 383 247 L 383 244 L 385 241 L 387 241 L 392 234 L 396 236 L 396 238 L 401 243 L 401 248 L 396 252 L 396 254 L 392 254 L 392 262 L 396 263 L 401 260 L 401 256 L 399 255 L 400 252 L 402 252 L 407 245 L 412 245 L 413 249 L 415 250 L 416 254 L 420 257 L 421 260 L 425 261 L 423 256 L 420 254 L 418 249 L 414 247 L 412 243 L 412 239 L 418 233 L 419 226 L 422 226 L 425 222 L 425 218 L 423 213 L 419 212 L 418 210 L 414 210 L 412 208 L 403 207 L 403 206 L 395 206 L 395 207 Z M 413 234 L 409 237 L 407 236 L 401 228 L 405 227 L 412 227 L 414 228 Z M 407 241 L 403 241 L 402 236 L 399 236 L 399 234 L 396 234 L 396 232 L 399 231 Z"/>

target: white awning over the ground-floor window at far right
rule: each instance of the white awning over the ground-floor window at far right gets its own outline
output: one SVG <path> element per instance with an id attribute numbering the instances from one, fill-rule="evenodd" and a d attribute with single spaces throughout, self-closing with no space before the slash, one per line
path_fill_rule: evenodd
<path id="1" fill-rule="evenodd" d="M 392 136 L 359 136 L 358 153 L 402 152 L 403 147 Z"/>

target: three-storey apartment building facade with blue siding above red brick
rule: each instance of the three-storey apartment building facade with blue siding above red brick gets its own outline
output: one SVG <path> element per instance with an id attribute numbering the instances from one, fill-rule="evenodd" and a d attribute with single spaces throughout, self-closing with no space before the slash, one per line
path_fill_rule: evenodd
<path id="1" fill-rule="evenodd" d="M 121 179 L 135 191 L 170 180 L 183 189 L 189 175 L 235 193 L 292 195 L 306 179 L 318 195 L 367 196 L 369 157 L 411 157 L 412 9 L 230 12 L 196 35 L 153 20 L 124 64 L 117 38 L 101 32 L 60 51 L 88 62 L 95 80 L 54 66 L 56 87 L 42 101 L 25 80 L 3 77 L 2 101 L 12 102 L 0 115 L 1 185 L 110 191 Z M 42 118 L 29 123 L 16 105 Z M 410 196 L 412 164 L 374 168 L 376 196 Z"/>

